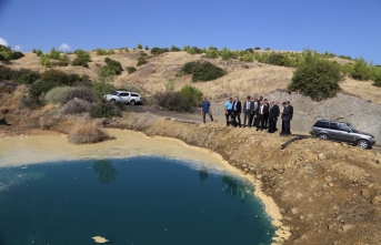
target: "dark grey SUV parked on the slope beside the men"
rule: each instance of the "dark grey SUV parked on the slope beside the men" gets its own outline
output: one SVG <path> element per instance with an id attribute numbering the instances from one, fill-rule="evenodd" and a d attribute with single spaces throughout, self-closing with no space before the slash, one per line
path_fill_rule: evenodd
<path id="1" fill-rule="evenodd" d="M 373 135 L 359 132 L 345 122 L 318 120 L 311 127 L 310 133 L 324 140 L 358 144 L 362 149 L 369 149 L 375 143 Z"/>

